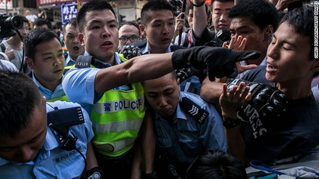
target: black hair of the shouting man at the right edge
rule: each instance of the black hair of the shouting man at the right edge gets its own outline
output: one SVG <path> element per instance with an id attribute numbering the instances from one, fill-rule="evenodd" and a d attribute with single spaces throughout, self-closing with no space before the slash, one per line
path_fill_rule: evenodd
<path id="1" fill-rule="evenodd" d="M 287 12 L 281 19 L 280 24 L 287 22 L 299 34 L 310 38 L 311 51 L 309 57 L 315 58 L 315 8 L 311 6 L 295 8 Z M 319 72 L 315 73 L 315 77 Z"/>

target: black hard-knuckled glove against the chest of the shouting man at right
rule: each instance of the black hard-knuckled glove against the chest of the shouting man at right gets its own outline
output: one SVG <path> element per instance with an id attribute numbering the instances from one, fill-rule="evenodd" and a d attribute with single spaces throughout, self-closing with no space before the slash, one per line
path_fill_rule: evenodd
<path id="1" fill-rule="evenodd" d="M 229 79 L 227 89 L 232 89 L 235 85 L 238 86 L 240 82 L 245 82 L 245 86 L 250 87 L 251 100 L 248 104 L 252 105 L 261 117 L 281 117 L 285 115 L 288 99 L 281 90 L 269 85 L 247 82 L 241 79 Z"/>

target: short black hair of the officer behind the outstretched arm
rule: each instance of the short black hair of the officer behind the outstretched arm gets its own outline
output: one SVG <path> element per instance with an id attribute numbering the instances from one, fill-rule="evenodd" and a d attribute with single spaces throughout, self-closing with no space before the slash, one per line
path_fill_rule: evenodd
<path id="1" fill-rule="evenodd" d="M 143 5 L 141 10 L 141 24 L 146 25 L 150 20 L 150 11 L 155 10 L 170 10 L 174 15 L 173 7 L 166 0 L 149 0 L 146 4 Z"/>

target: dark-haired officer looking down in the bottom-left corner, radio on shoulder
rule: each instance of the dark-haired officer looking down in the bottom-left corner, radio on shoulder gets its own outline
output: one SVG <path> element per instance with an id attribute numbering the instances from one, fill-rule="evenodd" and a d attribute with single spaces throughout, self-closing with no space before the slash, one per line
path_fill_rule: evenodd
<path id="1" fill-rule="evenodd" d="M 97 170 L 92 124 L 78 104 L 46 103 L 33 81 L 16 72 L 0 73 L 0 102 L 1 178 L 73 179 Z"/>

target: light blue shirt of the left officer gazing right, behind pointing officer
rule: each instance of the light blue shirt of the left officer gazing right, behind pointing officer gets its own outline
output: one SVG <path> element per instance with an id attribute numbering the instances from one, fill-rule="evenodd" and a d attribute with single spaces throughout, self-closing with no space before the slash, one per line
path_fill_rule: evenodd
<path id="1" fill-rule="evenodd" d="M 62 77 L 63 78 L 63 77 Z M 62 89 L 62 84 L 58 85 L 54 91 L 52 92 L 50 89 L 47 89 L 43 87 L 40 82 L 38 82 L 34 76 L 34 72 L 32 71 L 32 80 L 35 83 L 35 85 L 40 90 L 41 94 L 46 97 L 46 100 L 54 99 L 57 97 L 62 97 L 65 95 L 64 90 Z"/>

